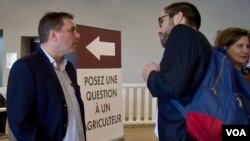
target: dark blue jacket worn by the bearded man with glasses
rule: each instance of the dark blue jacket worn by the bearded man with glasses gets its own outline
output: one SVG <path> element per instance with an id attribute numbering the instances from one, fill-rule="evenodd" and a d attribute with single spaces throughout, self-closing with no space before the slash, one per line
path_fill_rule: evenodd
<path id="1" fill-rule="evenodd" d="M 160 141 L 189 141 L 184 117 L 171 103 L 190 102 L 193 91 L 205 75 L 211 45 L 205 36 L 186 25 L 175 26 L 168 38 L 160 63 L 160 72 L 152 71 L 147 86 L 158 99 L 158 135 Z"/>

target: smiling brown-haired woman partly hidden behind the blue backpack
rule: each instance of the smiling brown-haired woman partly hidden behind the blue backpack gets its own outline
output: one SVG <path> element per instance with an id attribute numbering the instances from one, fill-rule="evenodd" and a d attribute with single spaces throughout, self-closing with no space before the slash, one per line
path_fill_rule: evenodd
<path id="1" fill-rule="evenodd" d="M 219 32 L 215 39 L 215 46 L 228 56 L 234 66 L 243 73 L 250 85 L 250 43 L 248 31 L 238 27 L 226 28 Z"/>

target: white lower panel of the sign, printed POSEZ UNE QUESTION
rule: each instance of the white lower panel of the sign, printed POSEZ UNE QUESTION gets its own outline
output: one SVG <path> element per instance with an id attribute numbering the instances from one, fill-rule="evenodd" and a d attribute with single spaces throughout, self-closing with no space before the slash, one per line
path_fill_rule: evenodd
<path id="1" fill-rule="evenodd" d="M 85 106 L 87 139 L 109 141 L 123 136 L 121 69 L 77 69 L 77 79 Z"/>

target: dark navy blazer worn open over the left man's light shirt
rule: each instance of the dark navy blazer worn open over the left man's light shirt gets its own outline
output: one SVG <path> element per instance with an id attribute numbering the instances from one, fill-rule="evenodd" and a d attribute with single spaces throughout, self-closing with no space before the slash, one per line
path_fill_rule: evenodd
<path id="1" fill-rule="evenodd" d="M 83 101 L 70 62 L 66 71 L 75 88 L 85 132 Z M 65 136 L 68 112 L 64 93 L 52 64 L 40 48 L 17 60 L 11 68 L 7 115 L 18 141 L 62 141 Z"/>

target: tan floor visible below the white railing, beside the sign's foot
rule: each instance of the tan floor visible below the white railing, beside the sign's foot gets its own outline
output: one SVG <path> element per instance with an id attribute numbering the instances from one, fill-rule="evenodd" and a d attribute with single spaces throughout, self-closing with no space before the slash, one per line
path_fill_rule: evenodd
<path id="1" fill-rule="evenodd" d="M 0 137 L 0 141 L 10 141 L 8 137 Z M 124 138 L 120 141 L 158 141 L 154 134 L 154 126 L 125 126 Z"/>

